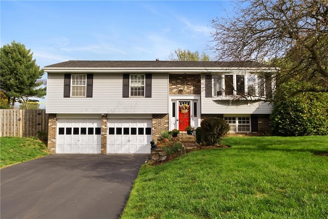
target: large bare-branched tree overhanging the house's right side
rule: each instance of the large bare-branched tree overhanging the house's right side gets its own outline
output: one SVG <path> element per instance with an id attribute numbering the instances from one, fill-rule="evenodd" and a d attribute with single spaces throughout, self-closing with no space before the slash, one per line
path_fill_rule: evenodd
<path id="1" fill-rule="evenodd" d="M 212 21 L 220 61 L 257 61 L 279 66 L 277 83 L 306 82 L 295 93 L 328 92 L 328 2 L 236 2 L 235 15 Z"/>

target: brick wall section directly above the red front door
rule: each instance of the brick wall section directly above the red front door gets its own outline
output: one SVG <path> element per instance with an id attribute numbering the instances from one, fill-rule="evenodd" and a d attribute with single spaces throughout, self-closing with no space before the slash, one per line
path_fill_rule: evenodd
<path id="1" fill-rule="evenodd" d="M 170 95 L 200 95 L 200 74 L 170 74 L 169 86 Z"/>

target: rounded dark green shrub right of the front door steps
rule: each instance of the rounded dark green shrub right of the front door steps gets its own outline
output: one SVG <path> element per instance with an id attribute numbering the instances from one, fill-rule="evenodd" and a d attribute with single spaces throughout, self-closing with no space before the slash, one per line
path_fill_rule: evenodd
<path id="1" fill-rule="evenodd" d="M 229 125 L 223 118 L 209 117 L 205 118 L 201 124 L 201 139 L 205 145 L 219 145 L 222 137 L 230 129 Z"/>

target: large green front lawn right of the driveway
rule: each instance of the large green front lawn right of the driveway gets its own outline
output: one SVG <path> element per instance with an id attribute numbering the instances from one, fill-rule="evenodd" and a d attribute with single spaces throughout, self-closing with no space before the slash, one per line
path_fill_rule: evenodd
<path id="1" fill-rule="evenodd" d="M 142 166 L 121 218 L 328 218 L 328 136 L 222 143 Z"/>

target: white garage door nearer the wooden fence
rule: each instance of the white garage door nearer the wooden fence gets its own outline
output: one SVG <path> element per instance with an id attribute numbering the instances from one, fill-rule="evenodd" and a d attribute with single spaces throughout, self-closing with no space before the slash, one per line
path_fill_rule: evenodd
<path id="1" fill-rule="evenodd" d="M 98 119 L 57 119 L 56 153 L 100 153 Z"/>

